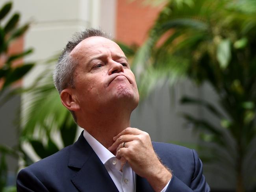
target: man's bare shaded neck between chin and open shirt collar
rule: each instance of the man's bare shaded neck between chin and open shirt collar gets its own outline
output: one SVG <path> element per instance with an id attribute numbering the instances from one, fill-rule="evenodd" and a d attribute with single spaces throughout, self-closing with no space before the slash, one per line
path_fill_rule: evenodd
<path id="1" fill-rule="evenodd" d="M 88 131 L 98 142 L 108 148 L 113 144 L 113 137 L 126 127 L 130 127 L 130 113 L 91 113 L 86 114 L 80 127 Z"/>

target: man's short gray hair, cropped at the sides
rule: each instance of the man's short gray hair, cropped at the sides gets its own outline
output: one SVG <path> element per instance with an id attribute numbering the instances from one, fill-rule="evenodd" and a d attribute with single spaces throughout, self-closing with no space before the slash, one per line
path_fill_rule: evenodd
<path id="1" fill-rule="evenodd" d="M 71 41 L 68 41 L 67 45 L 62 50 L 53 72 L 54 85 L 58 90 L 59 94 L 62 90 L 66 88 L 75 88 L 73 74 L 77 63 L 74 62 L 73 58 L 70 56 L 70 52 L 72 52 L 72 50 L 84 39 L 95 36 L 105 37 L 111 40 L 110 35 L 102 31 L 101 29 L 85 29 L 83 31 L 75 33 L 72 36 Z M 74 120 L 76 121 L 76 116 L 74 115 L 74 112 L 70 112 L 73 115 Z"/>

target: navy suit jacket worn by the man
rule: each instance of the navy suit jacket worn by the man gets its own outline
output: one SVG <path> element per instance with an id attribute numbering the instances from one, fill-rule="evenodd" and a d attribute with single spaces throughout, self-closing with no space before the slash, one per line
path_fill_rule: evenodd
<path id="1" fill-rule="evenodd" d="M 174 144 L 152 142 L 154 150 L 173 177 L 166 192 L 210 191 L 202 175 L 202 162 L 194 150 Z M 136 191 L 154 191 L 136 175 Z M 104 164 L 83 137 L 61 151 L 21 170 L 18 192 L 118 192 Z"/>

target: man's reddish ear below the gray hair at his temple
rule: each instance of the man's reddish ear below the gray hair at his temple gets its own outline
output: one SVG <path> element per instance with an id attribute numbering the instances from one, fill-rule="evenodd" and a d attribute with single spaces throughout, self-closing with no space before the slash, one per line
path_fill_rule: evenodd
<path id="1" fill-rule="evenodd" d="M 80 105 L 76 100 L 74 89 L 64 89 L 60 93 L 61 103 L 70 111 L 78 111 Z"/>

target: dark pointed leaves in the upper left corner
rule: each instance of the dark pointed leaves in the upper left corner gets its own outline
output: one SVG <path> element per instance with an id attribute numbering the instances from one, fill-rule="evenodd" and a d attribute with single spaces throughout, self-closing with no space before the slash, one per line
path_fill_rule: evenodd
<path id="1" fill-rule="evenodd" d="M 17 26 L 20 18 L 19 13 L 14 13 L 9 20 L 3 24 L 2 20 L 6 18 L 11 7 L 12 3 L 9 2 L 0 10 L 0 80 L 2 81 L 2 86 L 0 86 L 0 96 L 2 96 L 5 89 L 24 77 L 24 75 L 34 66 L 34 63 L 20 63 L 18 66 L 14 66 L 15 61 L 31 54 L 32 49 L 25 50 L 18 54 L 8 54 L 8 48 L 13 41 L 22 37 L 29 26 L 29 24 L 20 27 Z M 0 103 L 0 107 L 2 105 L 3 102 Z"/>

